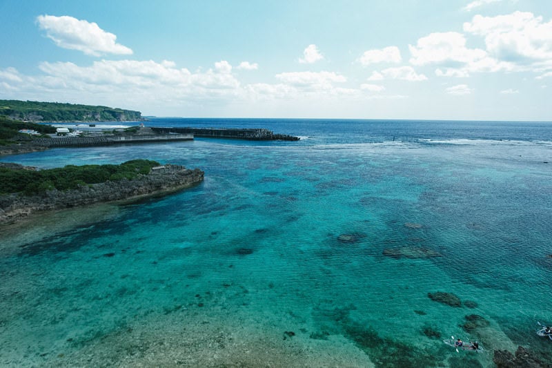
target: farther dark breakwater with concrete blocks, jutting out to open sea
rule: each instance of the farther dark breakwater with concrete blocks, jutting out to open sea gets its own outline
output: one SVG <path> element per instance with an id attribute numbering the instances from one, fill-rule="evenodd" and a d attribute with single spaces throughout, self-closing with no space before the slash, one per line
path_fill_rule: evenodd
<path id="1" fill-rule="evenodd" d="M 247 139 L 252 141 L 298 141 L 299 137 L 286 134 L 276 134 L 264 128 L 175 128 L 151 127 L 156 133 L 193 134 L 195 137 Z"/>

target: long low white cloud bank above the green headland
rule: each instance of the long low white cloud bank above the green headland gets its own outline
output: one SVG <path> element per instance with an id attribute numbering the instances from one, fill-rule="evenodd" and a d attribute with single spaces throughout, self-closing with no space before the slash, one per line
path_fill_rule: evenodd
<path id="1" fill-rule="evenodd" d="M 43 62 L 43 75 L 21 75 L 1 70 L 0 84 L 10 86 L 12 96 L 37 95 L 44 100 L 130 101 L 150 104 L 152 100 L 231 100 L 240 93 L 240 84 L 230 65 L 220 61 L 215 68 L 190 72 L 176 68 L 172 61 L 101 60 L 89 66 L 71 62 Z M 14 78 L 17 77 L 17 78 Z M 2 91 L 0 90 L 0 95 Z M 27 97 L 24 97 L 27 98 Z M 139 101 L 138 101 L 139 100 Z M 103 102 L 103 103 L 106 103 Z"/>

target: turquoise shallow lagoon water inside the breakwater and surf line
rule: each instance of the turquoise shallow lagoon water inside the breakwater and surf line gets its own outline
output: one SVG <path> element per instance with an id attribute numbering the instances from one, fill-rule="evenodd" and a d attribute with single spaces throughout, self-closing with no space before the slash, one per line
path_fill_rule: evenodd
<path id="1" fill-rule="evenodd" d="M 297 128 L 298 143 L 3 157 L 144 157 L 206 175 L 173 195 L 5 226 L 0 365 L 487 367 L 493 349 L 517 345 L 552 359 L 535 334 L 552 321 L 550 138 L 347 141 L 347 126 Z M 463 304 L 428 298 L 437 291 Z M 450 336 L 489 352 L 456 353 Z"/>

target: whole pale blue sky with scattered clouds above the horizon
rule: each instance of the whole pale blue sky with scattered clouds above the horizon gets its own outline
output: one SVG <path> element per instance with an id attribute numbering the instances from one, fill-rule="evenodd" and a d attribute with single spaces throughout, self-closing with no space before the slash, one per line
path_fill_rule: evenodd
<path id="1" fill-rule="evenodd" d="M 552 121 L 552 1 L 0 0 L 0 99 Z"/>

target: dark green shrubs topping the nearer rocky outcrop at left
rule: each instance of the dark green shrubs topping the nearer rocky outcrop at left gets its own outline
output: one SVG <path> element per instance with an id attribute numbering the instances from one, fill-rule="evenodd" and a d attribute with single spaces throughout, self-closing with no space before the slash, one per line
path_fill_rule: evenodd
<path id="1" fill-rule="evenodd" d="M 68 165 L 48 170 L 20 170 L 0 167 L 0 194 L 41 194 L 56 188 L 59 191 L 75 189 L 79 185 L 133 179 L 147 174 L 159 162 L 133 159 L 120 165 Z"/>

